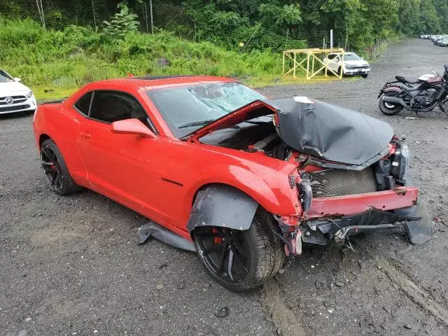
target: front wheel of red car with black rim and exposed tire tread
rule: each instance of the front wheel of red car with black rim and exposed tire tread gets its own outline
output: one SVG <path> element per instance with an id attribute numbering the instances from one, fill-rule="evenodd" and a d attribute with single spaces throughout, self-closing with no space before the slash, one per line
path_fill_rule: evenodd
<path id="1" fill-rule="evenodd" d="M 244 292 L 274 276 L 285 259 L 273 218 L 259 208 L 248 230 L 200 227 L 194 232 L 197 253 L 221 286 Z"/>

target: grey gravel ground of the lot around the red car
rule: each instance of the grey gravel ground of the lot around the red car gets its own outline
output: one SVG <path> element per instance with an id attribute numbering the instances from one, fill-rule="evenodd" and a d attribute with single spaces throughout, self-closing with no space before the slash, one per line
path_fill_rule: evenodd
<path id="1" fill-rule="evenodd" d="M 400 232 L 358 237 L 348 251 L 307 248 L 253 293 L 218 286 L 193 253 L 136 244 L 145 218 L 83 191 L 51 193 L 31 116 L 0 118 L 0 335 L 448 335 L 448 118 L 381 115 L 377 92 L 394 74 L 442 71 L 448 49 L 426 40 L 391 47 L 367 79 L 268 87 L 393 125 L 435 222 L 412 246 Z M 362 146 L 362 144 L 360 144 Z M 228 306 L 229 316 L 216 309 Z"/>

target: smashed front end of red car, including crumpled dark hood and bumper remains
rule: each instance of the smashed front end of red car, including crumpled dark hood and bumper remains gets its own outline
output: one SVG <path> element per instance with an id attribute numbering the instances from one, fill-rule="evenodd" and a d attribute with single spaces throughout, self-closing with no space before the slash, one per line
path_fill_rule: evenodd
<path id="1" fill-rule="evenodd" d="M 210 132 L 200 142 L 248 153 L 261 152 L 297 165 L 300 177 L 291 186 L 298 187 L 304 216 L 294 231 L 286 232 L 288 225 L 282 229 L 287 253 L 300 254 L 302 241 L 350 244 L 349 235 L 397 228 L 400 223 L 406 226 L 413 242 L 422 243 L 431 237 L 430 225 L 410 224 L 421 219 L 412 216 L 415 203 L 391 211 L 386 211 L 387 206 L 381 203 L 379 208 L 364 207 L 358 214 L 344 214 L 337 211 L 341 207 L 330 210 L 324 206 L 318 213 L 314 210 L 308 214 L 310 217 L 307 215 L 311 204 L 319 199 L 327 202 L 332 197 L 366 197 L 387 190 L 400 195 L 400 188 L 408 184 L 409 150 L 404 139 L 393 136 L 388 124 L 304 97 L 263 103 L 261 109 L 268 103 L 275 106 L 276 112 L 260 115 L 251 110 L 249 113 L 255 118 Z M 344 203 L 350 204 L 349 199 L 344 199 Z M 278 221 L 282 225 L 280 218 Z"/>

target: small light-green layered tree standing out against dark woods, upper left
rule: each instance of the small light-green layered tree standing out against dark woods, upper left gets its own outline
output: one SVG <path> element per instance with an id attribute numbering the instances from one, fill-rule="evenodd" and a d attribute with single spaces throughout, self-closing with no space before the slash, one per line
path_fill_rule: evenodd
<path id="1" fill-rule="evenodd" d="M 114 14 L 110 22 L 103 21 L 105 25 L 104 34 L 123 37 L 131 31 L 137 31 L 139 29 L 138 15 L 132 13 L 125 2 L 118 3 L 117 8 L 120 8 L 120 12 Z"/>

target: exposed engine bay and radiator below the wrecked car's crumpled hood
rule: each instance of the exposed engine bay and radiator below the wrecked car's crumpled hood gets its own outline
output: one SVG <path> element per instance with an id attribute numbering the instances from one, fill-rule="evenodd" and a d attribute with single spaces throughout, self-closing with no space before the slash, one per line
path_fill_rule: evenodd
<path id="1" fill-rule="evenodd" d="M 409 151 L 404 141 L 393 137 L 383 158 L 368 167 L 353 167 L 298 153 L 281 139 L 273 118 L 272 115 L 248 120 L 208 134 L 201 142 L 249 153 L 262 152 L 278 160 L 290 160 L 294 155 L 300 176 L 309 181 L 313 197 L 372 193 L 406 185 Z"/>

